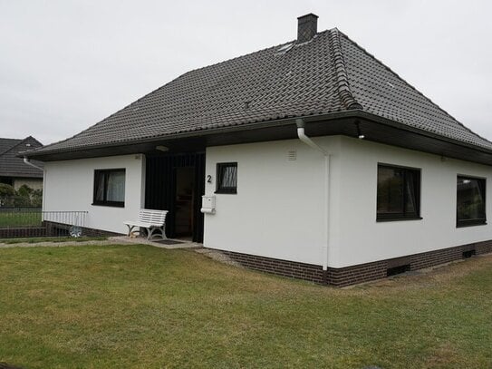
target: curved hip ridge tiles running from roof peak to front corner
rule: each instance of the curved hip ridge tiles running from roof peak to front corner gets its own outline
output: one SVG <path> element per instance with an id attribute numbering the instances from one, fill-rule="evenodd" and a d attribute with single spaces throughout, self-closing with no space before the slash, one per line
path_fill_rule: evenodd
<path id="1" fill-rule="evenodd" d="M 340 31 L 338 28 L 330 30 L 330 41 L 333 49 L 333 65 L 336 73 L 338 94 L 343 105 L 348 110 L 362 109 L 362 105 L 355 100 L 350 88 L 349 76 L 343 59 L 342 45 L 340 44 Z"/>

